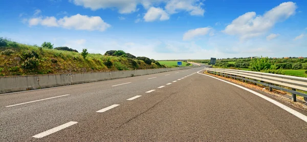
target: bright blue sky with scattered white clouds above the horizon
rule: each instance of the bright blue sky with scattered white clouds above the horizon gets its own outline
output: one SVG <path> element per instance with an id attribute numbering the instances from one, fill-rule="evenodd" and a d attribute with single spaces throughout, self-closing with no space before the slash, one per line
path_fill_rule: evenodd
<path id="1" fill-rule="evenodd" d="M 0 36 L 154 59 L 306 56 L 307 1 L 12 0 Z"/>

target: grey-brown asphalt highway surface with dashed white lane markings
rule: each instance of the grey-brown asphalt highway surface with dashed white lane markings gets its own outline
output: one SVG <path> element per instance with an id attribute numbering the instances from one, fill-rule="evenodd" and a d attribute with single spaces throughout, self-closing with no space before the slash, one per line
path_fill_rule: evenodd
<path id="1" fill-rule="evenodd" d="M 307 140 L 305 121 L 202 69 L 0 95 L 0 141 Z"/>

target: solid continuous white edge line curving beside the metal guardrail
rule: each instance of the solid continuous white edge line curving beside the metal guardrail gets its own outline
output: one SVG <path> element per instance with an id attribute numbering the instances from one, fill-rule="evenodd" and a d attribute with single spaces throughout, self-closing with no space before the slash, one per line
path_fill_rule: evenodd
<path id="1" fill-rule="evenodd" d="M 204 69 L 204 70 L 205 70 L 205 69 Z M 202 70 L 200 70 L 200 71 L 202 71 Z M 223 80 L 223 79 L 216 78 L 216 77 L 213 77 L 213 76 L 210 76 L 210 75 L 207 75 L 207 74 L 199 73 L 200 71 L 198 71 L 197 73 L 198 73 L 198 74 L 201 74 L 201 75 L 206 75 L 206 76 L 215 78 L 215 79 L 217 79 L 217 80 L 221 80 L 222 82 L 231 84 L 231 85 L 233 85 L 233 86 L 236 86 L 236 87 L 238 87 L 238 88 L 241 88 L 241 89 L 244 89 L 244 90 L 246 90 L 246 91 L 248 91 L 248 92 L 251 92 L 251 93 L 253 93 L 253 94 L 255 94 L 255 95 L 257 95 L 257 96 L 259 96 L 259 97 L 261 97 L 261 98 L 264 98 L 264 99 L 268 100 L 269 102 L 271 102 L 272 104 L 274 104 L 274 105 L 276 105 L 276 106 L 282 108 L 283 110 L 288 111 L 289 113 L 295 115 L 296 117 L 302 119 L 303 121 L 305 121 L 305 122 L 307 123 L 307 116 L 305 116 L 305 115 L 299 113 L 298 111 L 296 111 L 296 110 L 294 110 L 294 109 L 291 109 L 291 108 L 287 107 L 286 105 L 283 105 L 283 104 L 277 102 L 276 100 L 274 100 L 274 99 L 272 99 L 272 98 L 269 98 L 269 97 L 267 97 L 267 96 L 265 96 L 265 95 L 262 95 L 262 94 L 260 94 L 260 93 L 258 93 L 258 92 L 255 92 L 255 91 L 250 90 L 250 89 L 248 89 L 248 88 L 245 88 L 245 87 L 243 87 L 243 86 L 239 86 L 239 85 L 236 85 L 236 84 L 234 84 L 234 83 L 227 82 L 227 81 L 225 81 L 225 80 Z"/>

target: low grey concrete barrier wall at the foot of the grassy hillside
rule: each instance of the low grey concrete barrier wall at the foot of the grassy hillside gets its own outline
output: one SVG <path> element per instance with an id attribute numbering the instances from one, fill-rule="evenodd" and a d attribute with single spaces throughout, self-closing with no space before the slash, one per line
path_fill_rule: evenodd
<path id="1" fill-rule="evenodd" d="M 41 88 L 50 88 L 50 87 L 98 82 L 102 80 L 125 78 L 125 77 L 131 77 L 131 76 L 140 76 L 140 75 L 147 75 L 147 74 L 153 74 L 153 73 L 189 69 L 189 68 L 194 68 L 194 67 L 190 66 L 190 67 L 177 67 L 177 68 L 160 68 L 160 69 L 111 71 L 111 72 L 91 72 L 91 73 L 72 73 L 72 74 L 5 76 L 5 77 L 0 77 L 0 94 L 41 89 Z"/>

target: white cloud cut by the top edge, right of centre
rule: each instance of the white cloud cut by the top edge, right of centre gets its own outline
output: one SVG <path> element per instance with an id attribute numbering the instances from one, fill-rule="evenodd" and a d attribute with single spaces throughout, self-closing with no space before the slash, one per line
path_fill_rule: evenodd
<path id="1" fill-rule="evenodd" d="M 168 13 L 178 13 L 179 11 L 188 11 L 190 15 L 204 15 L 203 3 L 198 0 L 170 0 L 165 9 Z"/>

